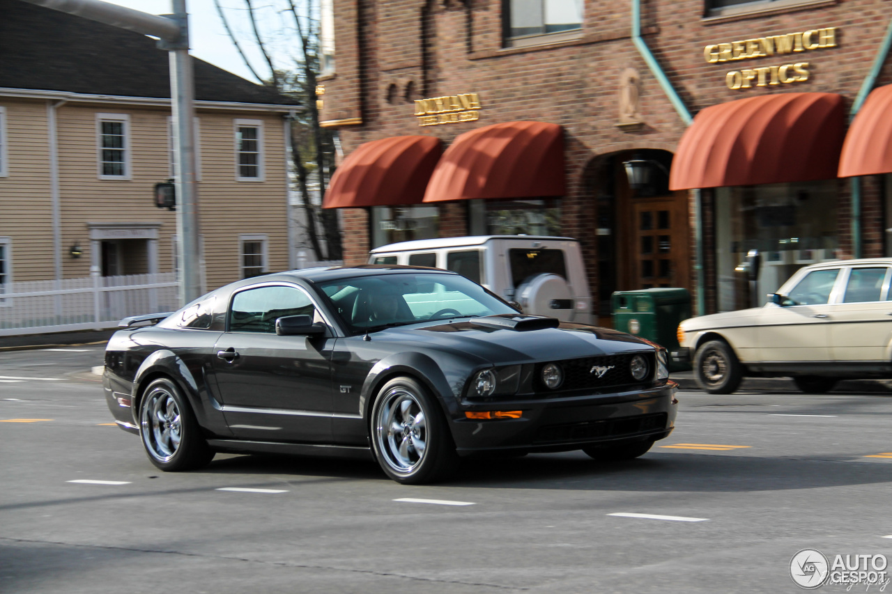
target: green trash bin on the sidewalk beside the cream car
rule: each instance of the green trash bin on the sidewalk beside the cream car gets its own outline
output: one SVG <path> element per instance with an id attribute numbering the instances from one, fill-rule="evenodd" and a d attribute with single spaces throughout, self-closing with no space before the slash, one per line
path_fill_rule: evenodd
<path id="1" fill-rule="evenodd" d="M 678 351 L 678 325 L 690 318 L 690 293 L 681 288 L 617 291 L 612 297 L 614 327 L 657 342 L 666 351 Z M 670 371 L 690 369 L 690 364 L 669 358 Z"/>

